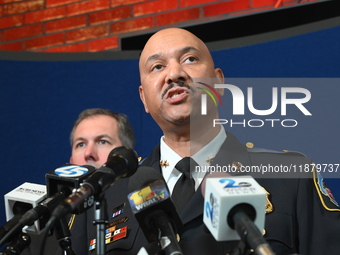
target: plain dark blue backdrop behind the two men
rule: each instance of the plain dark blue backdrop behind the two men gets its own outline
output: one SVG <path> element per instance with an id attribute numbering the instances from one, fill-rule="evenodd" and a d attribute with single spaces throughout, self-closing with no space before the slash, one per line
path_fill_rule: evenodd
<path id="1" fill-rule="evenodd" d="M 213 51 L 226 77 L 326 78 L 340 76 L 340 27 L 286 39 Z M 161 131 L 144 112 L 139 99 L 138 60 L 8 60 L 0 52 L 0 224 L 5 222 L 3 195 L 23 182 L 45 184 L 45 173 L 68 162 L 69 132 L 85 108 L 103 107 L 129 116 L 136 150 L 146 157 Z M 314 84 L 313 116 L 298 128 L 233 128 L 242 142 L 275 150 L 301 151 L 316 162 L 339 164 L 339 94 L 337 80 Z M 307 85 L 304 85 L 305 87 Z M 339 169 L 340 172 L 340 169 Z M 340 200 L 340 181 L 328 184 Z"/>

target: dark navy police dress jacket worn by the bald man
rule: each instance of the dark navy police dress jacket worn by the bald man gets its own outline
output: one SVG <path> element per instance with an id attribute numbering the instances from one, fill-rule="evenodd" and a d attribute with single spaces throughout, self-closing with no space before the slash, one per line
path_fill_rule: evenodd
<path id="1" fill-rule="evenodd" d="M 161 171 L 160 149 L 156 146 L 152 154 L 143 162 Z M 236 166 L 309 166 L 312 161 L 300 153 L 275 152 L 269 150 L 248 149 L 231 133 L 212 165 Z M 234 173 L 249 174 L 249 173 Z M 261 176 L 255 175 L 257 182 L 267 191 L 267 213 L 264 237 L 277 255 L 302 254 L 339 254 L 340 251 L 340 212 L 321 177 L 292 175 Z M 280 178 L 269 178 L 269 177 Z M 265 178 L 264 178 L 265 177 Z M 125 203 L 122 213 L 110 219 L 121 220 L 116 231 L 126 229 L 127 235 L 106 245 L 107 254 L 137 254 L 141 247 L 147 252 L 157 254 L 160 251 L 157 242 L 149 244 L 139 228 L 127 201 L 128 179 L 118 180 L 105 194 L 108 212 L 112 214 Z M 238 241 L 217 242 L 203 224 L 204 198 L 199 187 L 186 207 L 180 213 L 183 229 L 179 232 L 180 246 L 184 255 L 223 254 L 233 250 Z M 124 221 L 124 218 L 126 221 Z M 123 219 L 123 220 L 122 220 Z M 72 230 L 73 247 L 76 254 L 87 254 L 91 240 L 96 238 L 96 229 L 92 225 L 93 213 L 77 216 Z M 119 231 L 118 231 L 119 232 Z M 59 253 L 60 254 L 60 253 Z M 88 254 L 95 254 L 90 251 Z"/>

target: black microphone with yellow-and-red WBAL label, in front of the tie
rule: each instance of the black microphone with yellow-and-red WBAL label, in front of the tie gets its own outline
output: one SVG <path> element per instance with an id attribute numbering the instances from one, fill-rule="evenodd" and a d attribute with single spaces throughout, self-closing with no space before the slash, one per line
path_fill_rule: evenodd
<path id="1" fill-rule="evenodd" d="M 165 254 L 183 255 L 176 234 L 182 221 L 160 172 L 140 167 L 129 180 L 128 200 L 149 243 L 157 240 Z"/>

